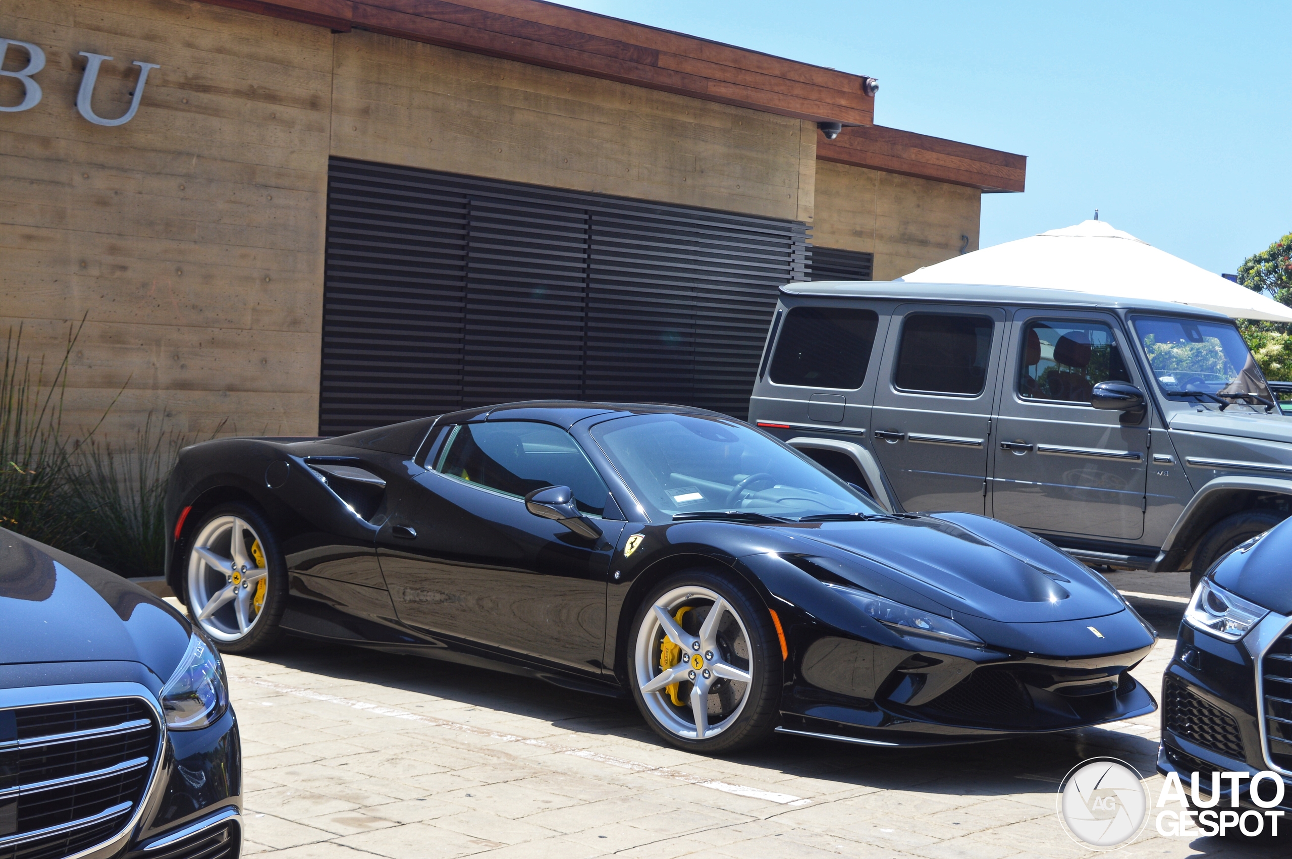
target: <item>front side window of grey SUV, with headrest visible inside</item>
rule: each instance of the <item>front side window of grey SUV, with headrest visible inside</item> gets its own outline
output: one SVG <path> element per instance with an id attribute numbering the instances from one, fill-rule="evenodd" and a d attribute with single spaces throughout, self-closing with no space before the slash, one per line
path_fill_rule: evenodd
<path id="1" fill-rule="evenodd" d="M 1097 384 L 1130 381 L 1116 336 L 1102 322 L 1034 319 L 1023 329 L 1022 351 L 1022 399 L 1088 404 Z"/>

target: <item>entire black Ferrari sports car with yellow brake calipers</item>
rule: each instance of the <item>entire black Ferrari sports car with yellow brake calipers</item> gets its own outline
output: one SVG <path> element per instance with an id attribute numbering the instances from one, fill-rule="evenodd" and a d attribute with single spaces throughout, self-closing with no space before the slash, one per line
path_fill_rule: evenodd
<path id="1" fill-rule="evenodd" d="M 629 692 L 682 748 L 773 730 L 983 740 L 1151 712 L 1154 633 L 1098 575 L 961 513 L 884 513 L 770 435 L 532 402 L 186 448 L 169 581 L 221 647 L 280 632 Z"/>

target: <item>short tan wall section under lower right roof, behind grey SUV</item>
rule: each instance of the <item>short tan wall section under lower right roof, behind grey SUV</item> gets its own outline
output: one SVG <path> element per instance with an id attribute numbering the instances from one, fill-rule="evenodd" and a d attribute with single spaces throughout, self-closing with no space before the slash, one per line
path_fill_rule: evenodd
<path id="1" fill-rule="evenodd" d="M 978 249 L 982 191 L 863 167 L 817 163 L 813 244 L 875 254 L 875 279 Z"/>

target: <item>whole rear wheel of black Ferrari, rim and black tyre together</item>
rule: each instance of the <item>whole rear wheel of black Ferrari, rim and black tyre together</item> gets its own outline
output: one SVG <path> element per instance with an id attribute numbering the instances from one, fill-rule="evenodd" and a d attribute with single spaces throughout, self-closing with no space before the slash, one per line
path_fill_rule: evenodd
<path id="1" fill-rule="evenodd" d="M 194 528 L 185 601 L 220 650 L 247 654 L 278 638 L 286 579 L 278 543 L 255 508 L 221 504 Z"/>

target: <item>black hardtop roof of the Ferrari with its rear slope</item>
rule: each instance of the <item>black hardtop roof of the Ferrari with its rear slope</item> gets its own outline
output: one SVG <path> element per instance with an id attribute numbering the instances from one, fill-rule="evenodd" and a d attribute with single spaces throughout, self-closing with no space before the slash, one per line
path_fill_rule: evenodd
<path id="1" fill-rule="evenodd" d="M 358 447 L 371 451 L 384 451 L 388 453 L 413 453 L 426 438 L 432 426 L 437 424 L 472 424 L 478 421 L 537 421 L 553 424 L 568 430 L 579 421 L 602 415 L 698 415 L 705 417 L 725 417 L 730 415 L 711 412 L 693 406 L 674 406 L 671 403 L 585 403 L 574 399 L 531 399 L 517 403 L 500 403 L 497 406 L 482 406 L 478 408 L 465 408 L 446 415 L 432 417 L 419 417 L 401 424 L 379 426 L 371 430 L 337 435 L 335 438 L 311 439 L 314 443 L 335 444 L 340 447 Z"/>

